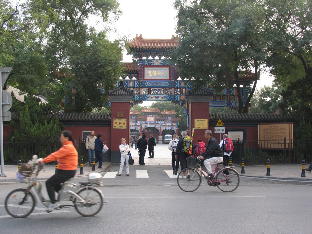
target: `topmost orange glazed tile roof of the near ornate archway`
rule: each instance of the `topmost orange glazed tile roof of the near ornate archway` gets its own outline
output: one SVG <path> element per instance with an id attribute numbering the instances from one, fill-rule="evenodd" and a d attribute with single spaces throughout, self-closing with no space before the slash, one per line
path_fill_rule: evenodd
<path id="1" fill-rule="evenodd" d="M 126 46 L 139 49 L 172 49 L 180 45 L 178 37 L 171 36 L 171 39 L 144 39 L 142 34 L 138 34 L 133 41 L 127 41 Z"/>

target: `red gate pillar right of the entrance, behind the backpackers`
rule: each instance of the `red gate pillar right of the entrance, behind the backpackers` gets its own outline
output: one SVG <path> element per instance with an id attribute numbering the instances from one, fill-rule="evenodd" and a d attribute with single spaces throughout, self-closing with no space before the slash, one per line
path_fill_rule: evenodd
<path id="1" fill-rule="evenodd" d="M 186 100 L 188 101 L 188 113 L 190 114 L 190 136 L 192 135 L 192 129 L 195 127 L 193 144 L 197 144 L 197 139 L 202 137 L 205 144 L 207 140 L 204 138 L 205 131 L 209 129 L 209 103 L 213 98 L 213 91 L 200 87 L 193 93 L 186 93 Z M 199 125 L 195 121 L 202 120 L 202 123 L 207 124 L 207 128 L 199 128 Z"/>

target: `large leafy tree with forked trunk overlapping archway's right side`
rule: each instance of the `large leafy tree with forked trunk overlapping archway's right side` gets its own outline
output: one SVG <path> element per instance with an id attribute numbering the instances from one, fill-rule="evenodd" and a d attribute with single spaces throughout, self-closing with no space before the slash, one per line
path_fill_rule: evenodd
<path id="1" fill-rule="evenodd" d="M 193 90 L 202 85 L 220 90 L 230 86 L 233 78 L 238 112 L 246 113 L 266 56 L 259 2 L 176 0 L 174 6 L 178 10 L 180 46 L 171 57 L 177 63 L 179 75 L 193 83 Z M 243 104 L 239 75 L 251 68 L 255 71 L 254 84 Z"/>

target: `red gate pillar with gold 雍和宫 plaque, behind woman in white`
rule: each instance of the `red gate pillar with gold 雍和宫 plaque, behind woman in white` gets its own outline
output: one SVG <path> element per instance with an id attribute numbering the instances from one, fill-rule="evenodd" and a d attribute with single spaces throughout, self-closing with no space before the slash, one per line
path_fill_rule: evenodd
<path id="1" fill-rule="evenodd" d="M 108 91 L 112 111 L 110 126 L 111 163 L 120 163 L 119 145 L 121 144 L 121 138 L 124 137 L 127 143 L 130 137 L 130 104 L 133 100 L 133 91 L 123 86 L 123 80 L 119 84 L 119 87 Z"/>

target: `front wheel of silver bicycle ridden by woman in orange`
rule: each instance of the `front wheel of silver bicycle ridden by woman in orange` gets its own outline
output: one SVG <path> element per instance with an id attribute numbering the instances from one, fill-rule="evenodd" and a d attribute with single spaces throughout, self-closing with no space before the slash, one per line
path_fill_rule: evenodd
<path id="1" fill-rule="evenodd" d="M 5 209 L 14 218 L 24 218 L 35 208 L 35 198 L 25 188 L 14 189 L 5 198 Z"/>

